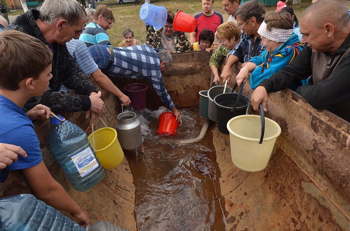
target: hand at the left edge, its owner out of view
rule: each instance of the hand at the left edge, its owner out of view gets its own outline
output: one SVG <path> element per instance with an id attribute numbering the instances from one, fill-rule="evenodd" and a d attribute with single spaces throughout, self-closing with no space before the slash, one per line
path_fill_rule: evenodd
<path id="1" fill-rule="evenodd" d="M 19 146 L 7 143 L 0 143 L 0 169 L 5 169 L 7 165 L 18 160 L 18 155 L 27 157 L 27 153 Z"/>

